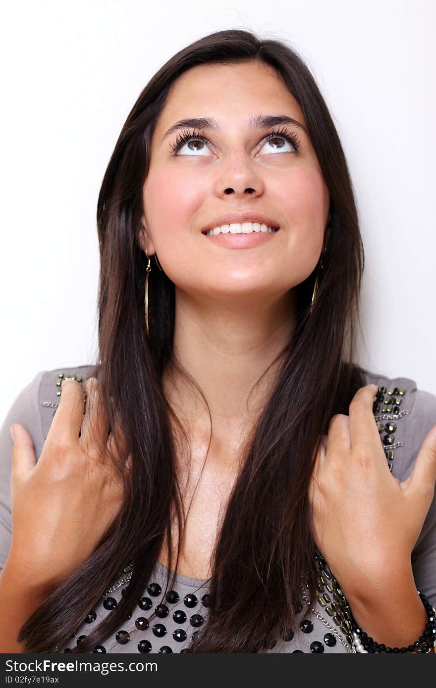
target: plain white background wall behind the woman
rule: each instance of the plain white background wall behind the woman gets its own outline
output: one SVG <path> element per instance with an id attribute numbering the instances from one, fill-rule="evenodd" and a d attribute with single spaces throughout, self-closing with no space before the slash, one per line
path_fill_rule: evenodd
<path id="1" fill-rule="evenodd" d="M 433 0 L 8 3 L 0 41 L 0 418 L 40 370 L 94 361 L 95 211 L 116 138 L 168 58 L 227 28 L 288 40 L 311 68 L 360 213 L 360 361 L 436 394 L 435 7 Z"/>

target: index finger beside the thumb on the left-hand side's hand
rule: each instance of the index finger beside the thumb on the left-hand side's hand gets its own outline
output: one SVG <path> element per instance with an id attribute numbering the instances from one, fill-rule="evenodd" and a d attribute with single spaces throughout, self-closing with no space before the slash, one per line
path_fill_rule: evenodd
<path id="1" fill-rule="evenodd" d="M 59 406 L 54 413 L 49 434 L 51 437 L 78 440 L 83 420 L 84 394 L 82 385 L 73 378 L 62 380 Z"/>

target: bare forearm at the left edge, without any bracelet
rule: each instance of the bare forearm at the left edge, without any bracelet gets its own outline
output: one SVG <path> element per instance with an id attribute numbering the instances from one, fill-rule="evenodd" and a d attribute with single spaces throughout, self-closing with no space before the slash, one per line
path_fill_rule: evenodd
<path id="1" fill-rule="evenodd" d="M 0 653 L 24 652 L 17 636 L 23 623 L 43 603 L 45 595 L 20 584 L 13 566 L 6 564 L 0 572 Z"/>

